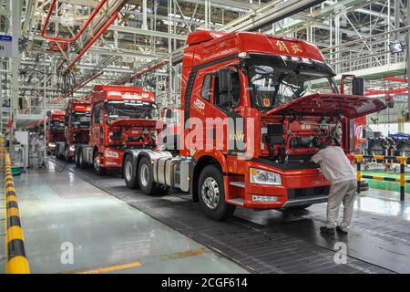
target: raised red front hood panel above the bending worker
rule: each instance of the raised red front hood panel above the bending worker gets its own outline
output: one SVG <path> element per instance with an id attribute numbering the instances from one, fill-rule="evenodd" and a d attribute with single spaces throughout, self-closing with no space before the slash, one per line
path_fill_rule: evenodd
<path id="1" fill-rule="evenodd" d="M 264 113 L 270 115 L 299 114 L 302 116 L 336 116 L 343 115 L 349 119 L 365 116 L 386 107 L 376 98 L 347 94 L 311 94 Z"/>

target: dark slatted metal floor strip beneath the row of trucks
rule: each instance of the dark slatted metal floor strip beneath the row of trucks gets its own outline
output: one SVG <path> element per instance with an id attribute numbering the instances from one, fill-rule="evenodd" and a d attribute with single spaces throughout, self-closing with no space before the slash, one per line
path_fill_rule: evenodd
<path id="1" fill-rule="evenodd" d="M 160 222 L 196 240 L 202 245 L 229 257 L 243 267 L 255 273 L 394 273 L 409 272 L 410 267 L 395 262 L 393 257 L 386 258 L 388 263 L 380 262 L 380 254 L 368 255 L 372 248 L 383 249 L 380 242 L 383 236 L 400 224 L 409 226 L 403 220 L 390 221 L 389 227 L 378 227 L 386 223 L 384 216 L 360 213 L 358 232 L 364 233 L 359 250 L 351 252 L 347 264 L 334 262 L 335 251 L 333 241 L 322 238 L 316 230 L 323 224 L 323 205 L 314 205 L 302 214 L 283 215 L 253 212 L 240 209 L 235 216 L 226 222 L 213 222 L 200 212 L 197 203 L 192 203 L 190 196 L 184 193 L 170 193 L 162 196 L 145 196 L 135 190 L 128 190 L 122 179 L 116 174 L 98 176 L 92 170 L 80 170 L 74 166 L 67 171 L 81 175 L 88 183 L 92 183 L 105 192 L 129 203 L 149 214 Z M 263 214 L 263 215 L 259 215 Z M 360 223 L 360 224 L 359 224 Z M 377 223 L 377 224 L 374 224 Z M 395 229 L 397 230 L 397 229 Z M 408 229 L 407 229 L 408 230 Z M 405 233 L 405 230 L 403 230 Z M 395 234 L 397 236 L 397 234 Z M 400 234 L 403 235 L 403 234 Z M 356 235 L 349 235 L 349 245 Z M 410 255 L 410 234 L 398 238 L 401 248 Z M 335 239 L 337 240 L 337 238 Z M 367 240 L 367 242 L 365 242 Z M 383 245 L 384 242 L 382 242 Z M 354 245 L 354 246 L 359 246 Z M 367 246 L 365 245 L 367 244 Z M 386 242 L 386 244 L 390 244 Z M 351 255 L 352 254 L 352 255 Z M 383 255 L 384 256 L 384 255 Z M 379 257 L 379 258 L 376 258 Z M 403 256 L 402 256 L 403 257 Z M 382 257 L 383 258 L 383 257 Z"/>

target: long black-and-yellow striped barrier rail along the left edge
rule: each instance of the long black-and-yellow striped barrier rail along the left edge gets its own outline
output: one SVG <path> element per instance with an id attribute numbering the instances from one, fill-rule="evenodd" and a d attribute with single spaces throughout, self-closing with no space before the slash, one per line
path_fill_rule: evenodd
<path id="1" fill-rule="evenodd" d="M 5 166 L 5 272 L 7 274 L 29 274 L 25 239 L 18 211 L 15 183 L 11 170 L 10 155 L 1 148 Z"/>

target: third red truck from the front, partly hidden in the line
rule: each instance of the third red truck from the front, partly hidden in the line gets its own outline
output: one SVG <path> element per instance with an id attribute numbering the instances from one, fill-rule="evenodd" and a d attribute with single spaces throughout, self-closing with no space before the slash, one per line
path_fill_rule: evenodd
<path id="1" fill-rule="evenodd" d="M 80 145 L 88 145 L 91 104 L 78 99 L 67 103 L 65 117 L 65 141 L 56 142 L 56 158 L 71 162 L 74 151 Z M 78 162 L 77 162 L 78 163 Z"/>

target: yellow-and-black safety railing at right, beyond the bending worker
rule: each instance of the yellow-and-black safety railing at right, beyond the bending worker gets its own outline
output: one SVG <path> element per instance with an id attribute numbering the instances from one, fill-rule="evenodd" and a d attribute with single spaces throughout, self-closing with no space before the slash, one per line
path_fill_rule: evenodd
<path id="1" fill-rule="evenodd" d="M 405 202 L 405 183 L 410 183 L 410 180 L 405 179 L 405 163 L 410 162 L 409 157 L 405 156 L 384 156 L 384 155 L 354 155 L 354 159 L 357 164 L 357 193 L 360 193 L 360 182 L 362 179 L 377 180 L 384 182 L 395 182 L 400 183 L 400 201 Z M 374 159 L 378 161 L 395 161 L 400 163 L 400 177 L 384 177 L 384 176 L 375 176 L 375 175 L 365 175 L 362 174 L 362 162 L 365 159 Z"/>

